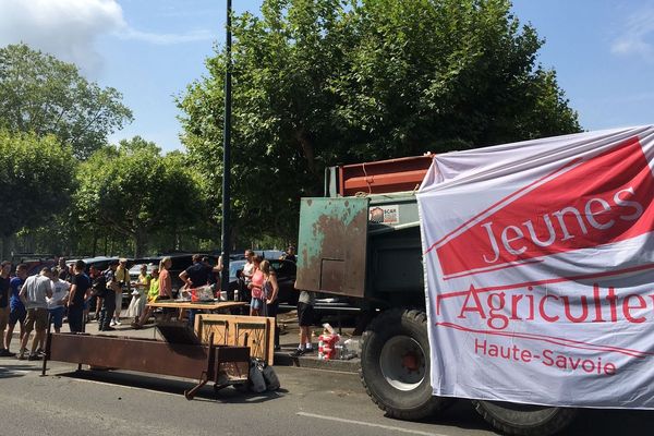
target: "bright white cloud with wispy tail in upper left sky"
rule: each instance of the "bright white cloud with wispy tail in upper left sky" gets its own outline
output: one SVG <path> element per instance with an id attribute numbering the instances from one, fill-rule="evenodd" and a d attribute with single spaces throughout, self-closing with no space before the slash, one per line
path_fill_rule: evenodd
<path id="1" fill-rule="evenodd" d="M 101 35 L 170 45 L 208 40 L 206 31 L 157 34 L 132 28 L 117 0 L 0 0 L 0 46 L 25 43 L 96 75 L 102 57 Z"/>

